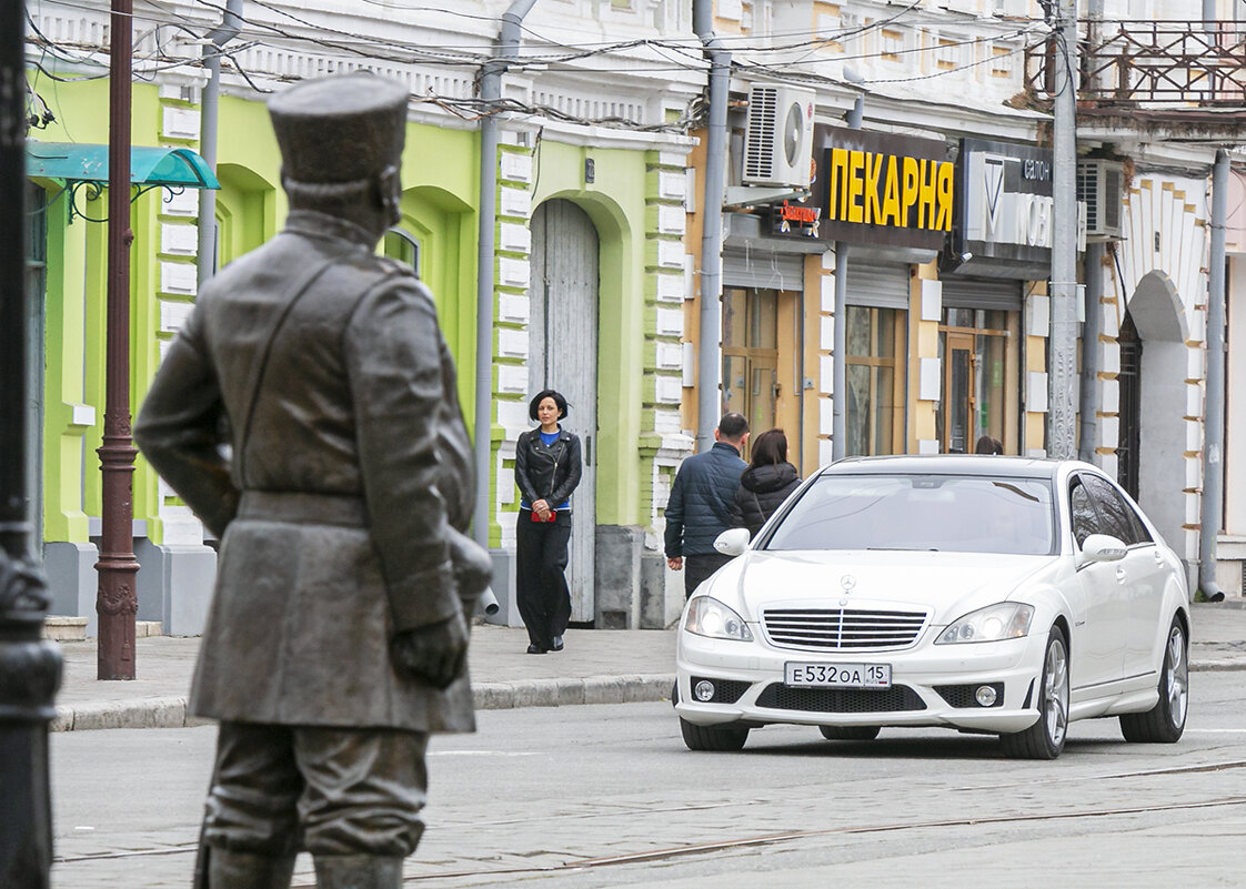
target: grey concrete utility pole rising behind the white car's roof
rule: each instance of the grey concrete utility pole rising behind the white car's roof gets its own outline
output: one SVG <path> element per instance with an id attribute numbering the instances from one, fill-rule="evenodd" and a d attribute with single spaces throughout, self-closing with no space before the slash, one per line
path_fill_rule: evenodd
<path id="1" fill-rule="evenodd" d="M 1078 2 L 1050 0 L 1055 40 L 1052 194 L 1052 330 L 1048 340 L 1047 456 L 1077 457 L 1078 403 Z"/>

